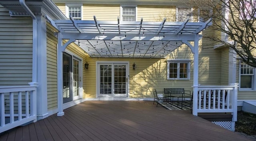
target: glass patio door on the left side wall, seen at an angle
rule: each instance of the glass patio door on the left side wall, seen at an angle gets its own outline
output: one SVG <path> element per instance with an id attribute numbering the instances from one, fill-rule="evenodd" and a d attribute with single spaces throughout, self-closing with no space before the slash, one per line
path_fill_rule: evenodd
<path id="1" fill-rule="evenodd" d="M 80 98 L 80 60 L 63 53 L 63 103 Z"/>

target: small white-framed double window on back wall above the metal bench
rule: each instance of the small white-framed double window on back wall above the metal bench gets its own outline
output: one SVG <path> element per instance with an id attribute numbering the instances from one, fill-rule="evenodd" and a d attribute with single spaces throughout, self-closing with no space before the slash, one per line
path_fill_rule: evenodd
<path id="1" fill-rule="evenodd" d="M 167 79 L 190 79 L 191 60 L 168 60 Z"/>

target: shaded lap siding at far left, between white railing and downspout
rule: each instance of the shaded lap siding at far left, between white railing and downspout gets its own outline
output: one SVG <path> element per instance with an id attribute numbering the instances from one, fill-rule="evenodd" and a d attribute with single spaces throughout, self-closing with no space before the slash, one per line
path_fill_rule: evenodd
<path id="1" fill-rule="evenodd" d="M 32 81 L 32 19 L 11 17 L 0 5 L 0 85 Z"/>

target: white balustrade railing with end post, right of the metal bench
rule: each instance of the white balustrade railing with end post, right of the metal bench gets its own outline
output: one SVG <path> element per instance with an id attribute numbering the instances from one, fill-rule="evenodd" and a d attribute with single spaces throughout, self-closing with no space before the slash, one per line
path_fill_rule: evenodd
<path id="1" fill-rule="evenodd" d="M 194 86 L 193 115 L 198 113 L 231 113 L 232 130 L 237 121 L 238 84 L 227 86 L 199 85 Z"/>

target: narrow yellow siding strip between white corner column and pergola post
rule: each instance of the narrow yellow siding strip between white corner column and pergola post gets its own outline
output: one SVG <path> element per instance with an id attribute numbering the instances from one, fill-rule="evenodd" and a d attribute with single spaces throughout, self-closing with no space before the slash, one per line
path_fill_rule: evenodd
<path id="1" fill-rule="evenodd" d="M 47 23 L 47 104 L 48 110 L 57 108 L 57 43 L 54 28 Z"/>

